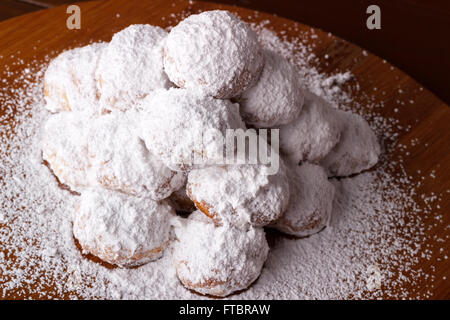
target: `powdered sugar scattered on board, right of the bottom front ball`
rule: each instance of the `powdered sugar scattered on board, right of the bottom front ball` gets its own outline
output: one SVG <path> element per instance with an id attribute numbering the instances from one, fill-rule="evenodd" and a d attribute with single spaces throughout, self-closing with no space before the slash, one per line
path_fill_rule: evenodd
<path id="1" fill-rule="evenodd" d="M 414 286 L 424 275 L 414 266 L 424 231 L 396 221 L 420 212 L 410 196 L 381 170 L 333 184 L 330 225 L 301 240 L 277 238 L 245 298 L 419 298 Z M 368 286 L 373 280 L 379 285 Z"/>

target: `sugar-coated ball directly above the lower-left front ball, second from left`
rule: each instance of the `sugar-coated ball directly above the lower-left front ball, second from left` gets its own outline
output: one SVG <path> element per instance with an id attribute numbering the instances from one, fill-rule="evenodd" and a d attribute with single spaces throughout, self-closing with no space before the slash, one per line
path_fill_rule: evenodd
<path id="1" fill-rule="evenodd" d="M 130 112 L 110 113 L 90 123 L 90 181 L 135 196 L 165 199 L 184 185 L 186 177 L 148 151 L 138 136 L 137 117 Z"/>

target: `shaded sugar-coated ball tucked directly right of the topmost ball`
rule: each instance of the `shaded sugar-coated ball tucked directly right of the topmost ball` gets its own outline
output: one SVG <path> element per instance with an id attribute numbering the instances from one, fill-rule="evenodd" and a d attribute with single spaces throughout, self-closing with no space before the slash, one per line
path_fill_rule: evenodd
<path id="1" fill-rule="evenodd" d="M 295 120 L 304 92 L 297 68 L 282 55 L 264 49 L 264 68 L 258 82 L 239 98 L 246 123 L 270 128 Z"/>

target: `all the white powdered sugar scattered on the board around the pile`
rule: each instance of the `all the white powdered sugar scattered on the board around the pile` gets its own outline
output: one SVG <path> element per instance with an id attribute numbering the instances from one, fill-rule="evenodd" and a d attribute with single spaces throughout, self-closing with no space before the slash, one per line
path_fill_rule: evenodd
<path id="1" fill-rule="evenodd" d="M 308 66 L 314 57 L 307 45 L 280 40 L 262 27 L 259 31 L 266 43 L 277 43 L 275 48 L 302 63 L 310 90 L 336 104 L 351 101 L 351 94 L 336 85 L 348 77 L 327 80 Z M 42 94 L 45 65 L 23 65 L 20 59 L 17 64 L 19 71 L 5 67 L 2 83 L 9 85 L 0 88 L 0 297 L 203 298 L 178 281 L 174 241 L 161 259 L 137 269 L 108 269 L 80 253 L 72 233 L 79 197 L 59 188 L 42 164 L 40 130 L 48 117 Z M 366 118 L 380 138 L 396 141 L 395 119 L 376 113 Z M 429 288 L 435 280 L 418 267 L 434 253 L 426 245 L 432 236 L 422 216 L 432 215 L 445 196 L 427 194 L 426 201 L 416 203 L 416 185 L 401 159 L 387 156 L 373 171 L 332 182 L 336 195 L 330 225 L 304 239 L 269 232 L 271 250 L 260 278 L 230 298 L 428 296 L 417 292 L 422 279 Z M 439 223 L 442 217 L 437 216 Z"/>

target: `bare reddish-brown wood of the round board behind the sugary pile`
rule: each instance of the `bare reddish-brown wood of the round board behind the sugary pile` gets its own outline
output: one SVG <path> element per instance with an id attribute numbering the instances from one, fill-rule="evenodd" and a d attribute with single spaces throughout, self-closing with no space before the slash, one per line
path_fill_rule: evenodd
<path id="1" fill-rule="evenodd" d="M 237 13 L 244 20 L 258 22 L 269 20 L 268 27 L 275 31 L 285 31 L 288 36 L 311 30 L 311 27 L 279 18 L 273 15 L 204 2 L 163 0 L 116 0 L 80 3 L 82 12 L 81 29 L 69 30 L 66 27 L 66 7 L 39 11 L 0 23 L 0 74 L 6 68 L 14 71 L 21 66 L 14 65 L 18 57 L 29 62 L 44 61 L 46 56 L 54 57 L 64 49 L 88 44 L 91 41 L 109 41 L 111 36 L 130 24 L 149 23 L 167 27 L 178 21 L 177 17 L 211 9 L 227 9 Z M 180 14 L 182 13 L 182 14 Z M 173 15 L 175 14 L 175 16 Z M 294 31 L 296 30 L 296 31 Z M 406 173 L 414 179 L 434 173 L 435 179 L 426 179 L 417 188 L 420 194 L 444 194 L 440 209 L 436 214 L 443 216 L 444 222 L 433 227 L 431 232 L 437 238 L 446 239 L 447 226 L 450 223 L 450 201 L 447 190 L 450 189 L 450 108 L 432 93 L 386 61 L 363 52 L 361 48 L 339 39 L 326 32 L 314 30 L 318 36 L 314 40 L 314 53 L 320 58 L 316 65 L 320 72 L 335 73 L 349 70 L 359 83 L 360 91 L 354 96 L 355 103 L 367 104 L 382 102 L 379 110 L 386 117 L 395 116 L 399 125 L 411 130 L 400 135 L 399 142 L 410 145 L 412 139 L 420 143 L 410 146 L 409 157 L 404 158 Z M 407 54 L 407 53 L 405 53 Z M 328 57 L 325 58 L 325 55 Z M 6 78 L 7 85 L 13 78 Z M 2 84 L 4 85 L 4 84 Z M 364 93 L 364 94 L 362 94 Z M 373 100 L 372 100 L 373 99 Z M 399 101 L 406 101 L 399 105 Z M 410 101 L 413 103 L 410 103 Z M 397 111 L 397 112 L 395 112 Z M 0 115 L 4 110 L 0 108 Z M 395 157 L 395 151 L 393 154 Z M 0 195 L 1 196 L 1 195 Z M 434 218 L 425 218 L 425 223 L 434 225 Z M 440 259 L 438 248 L 449 252 L 449 242 L 430 243 L 434 248 L 431 260 L 423 260 L 420 268 L 435 275 L 433 287 L 424 280 L 419 292 L 431 291 L 432 298 L 450 298 L 450 261 Z M 408 288 L 405 288 L 406 290 Z M 14 295 L 9 296 L 15 298 Z M 23 298 L 20 296 L 19 298 Z"/>

